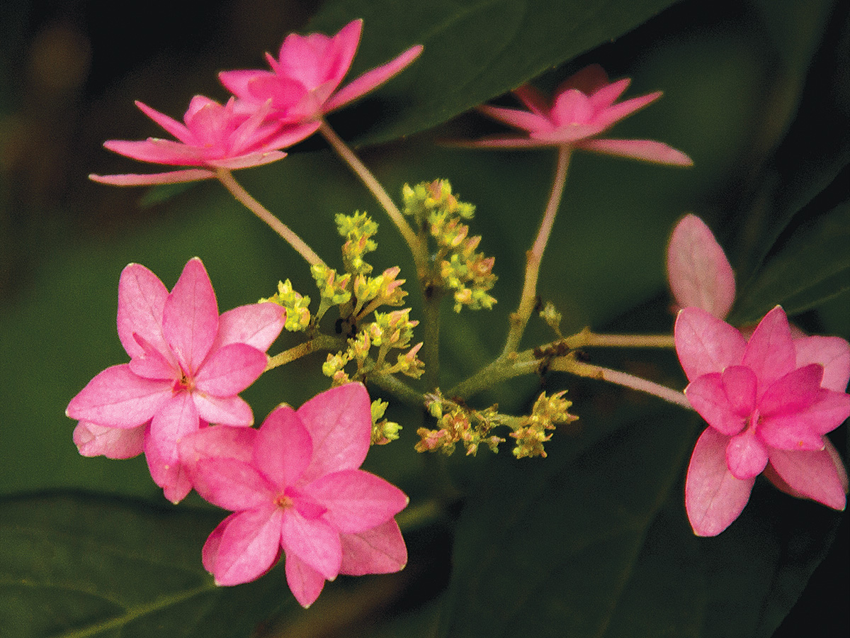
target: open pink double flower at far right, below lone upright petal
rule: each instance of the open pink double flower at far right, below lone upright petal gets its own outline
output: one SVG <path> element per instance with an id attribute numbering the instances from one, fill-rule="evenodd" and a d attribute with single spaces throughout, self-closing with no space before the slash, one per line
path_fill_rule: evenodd
<path id="1" fill-rule="evenodd" d="M 847 341 L 793 339 L 779 306 L 749 341 L 706 310 L 685 308 L 675 339 L 685 395 L 709 424 L 685 484 L 694 533 L 723 532 L 762 471 L 785 492 L 843 510 L 847 473 L 824 435 L 850 416 Z"/>

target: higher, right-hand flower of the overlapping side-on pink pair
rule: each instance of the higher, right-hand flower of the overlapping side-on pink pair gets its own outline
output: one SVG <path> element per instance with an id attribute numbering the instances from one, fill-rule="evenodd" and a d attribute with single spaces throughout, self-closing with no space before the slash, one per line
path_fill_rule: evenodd
<path id="1" fill-rule="evenodd" d="M 394 60 L 337 90 L 360 44 L 363 20 L 349 22 L 333 37 L 322 33 L 291 33 L 277 60 L 266 54 L 271 71 L 224 71 L 218 75 L 243 108 L 258 108 L 271 100 L 271 116 L 285 124 L 316 122 L 326 113 L 357 100 L 416 60 L 422 46 L 411 47 Z"/>

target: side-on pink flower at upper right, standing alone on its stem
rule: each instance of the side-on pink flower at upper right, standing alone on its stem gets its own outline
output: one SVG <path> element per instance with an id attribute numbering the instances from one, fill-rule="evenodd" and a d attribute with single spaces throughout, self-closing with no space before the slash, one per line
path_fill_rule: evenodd
<path id="1" fill-rule="evenodd" d="M 658 91 L 615 104 L 630 82 L 626 78 L 609 83 L 603 68 L 591 65 L 564 80 L 551 101 L 530 84 L 525 84 L 513 91 L 525 110 L 479 106 L 484 115 L 519 128 L 524 134 L 499 135 L 465 145 L 503 149 L 571 146 L 647 162 L 691 166 L 694 162 L 690 157 L 661 142 L 598 139 L 598 134 L 661 96 Z"/>

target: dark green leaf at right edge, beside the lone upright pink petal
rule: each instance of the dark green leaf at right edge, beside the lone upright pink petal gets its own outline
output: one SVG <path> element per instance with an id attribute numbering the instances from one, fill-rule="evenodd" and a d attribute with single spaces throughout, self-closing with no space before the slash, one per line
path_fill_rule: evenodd
<path id="1" fill-rule="evenodd" d="M 850 202 L 802 226 L 741 291 L 731 321 L 755 322 L 782 305 L 789 315 L 850 289 Z"/>

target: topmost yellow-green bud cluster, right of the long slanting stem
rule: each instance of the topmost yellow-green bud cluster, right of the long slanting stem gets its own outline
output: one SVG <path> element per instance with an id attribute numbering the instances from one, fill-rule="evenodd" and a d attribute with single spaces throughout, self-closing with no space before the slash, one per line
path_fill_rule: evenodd
<path id="1" fill-rule="evenodd" d="M 470 310 L 490 310 L 496 299 L 489 293 L 496 283 L 495 259 L 476 252 L 480 236 L 469 236 L 469 226 L 462 220 L 472 219 L 473 204 L 461 202 L 451 192 L 445 179 L 402 189 L 404 213 L 414 219 L 420 234 L 427 233 L 437 244 L 432 258 L 433 285 L 454 295 L 455 312 L 466 306 Z"/>

